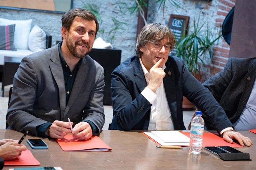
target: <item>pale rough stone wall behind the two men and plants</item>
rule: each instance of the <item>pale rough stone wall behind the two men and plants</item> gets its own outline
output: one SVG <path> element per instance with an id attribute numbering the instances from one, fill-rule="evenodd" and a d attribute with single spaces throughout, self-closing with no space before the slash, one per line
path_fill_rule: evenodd
<path id="1" fill-rule="evenodd" d="M 136 33 L 137 33 L 137 14 L 123 14 L 121 15 L 118 7 L 118 2 L 123 1 L 127 4 L 132 4 L 131 0 L 73 0 L 73 8 L 83 7 L 84 3 L 99 3 L 101 4 L 101 17 L 102 24 L 100 28 L 105 29 L 105 33 L 113 27 L 111 17 L 115 17 L 117 20 L 125 22 L 128 26 L 124 26 L 124 30 L 118 30 L 115 34 L 115 40 L 112 45 L 122 50 L 122 59 L 130 57 L 135 49 Z M 211 30 L 217 31 L 215 25 L 215 19 L 217 17 L 217 5 L 220 0 L 212 0 L 210 2 L 204 0 L 178 0 L 181 3 L 181 8 L 172 6 L 168 1 L 163 8 L 158 10 L 158 4 L 155 5 L 155 0 L 149 0 L 148 9 L 148 23 L 161 22 L 167 24 L 170 18 L 170 14 L 178 14 L 184 16 L 190 16 L 189 27 L 193 26 L 193 19 L 198 18 L 200 14 L 200 23 L 207 20 Z M 15 20 L 33 19 L 33 25 L 37 24 L 49 34 L 52 35 L 52 45 L 55 45 L 56 41 L 61 40 L 60 28 L 62 14 L 23 11 L 23 10 L 9 10 L 0 8 L 0 17 Z"/>

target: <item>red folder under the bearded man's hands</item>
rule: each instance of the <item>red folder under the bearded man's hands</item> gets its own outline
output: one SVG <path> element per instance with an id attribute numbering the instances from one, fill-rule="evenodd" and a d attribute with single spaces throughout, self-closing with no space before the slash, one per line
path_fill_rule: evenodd
<path id="1" fill-rule="evenodd" d="M 72 134 L 67 134 L 63 139 L 57 139 L 59 146 L 64 151 L 109 151 L 109 147 L 98 136 L 92 136 L 88 140 L 78 140 Z"/>

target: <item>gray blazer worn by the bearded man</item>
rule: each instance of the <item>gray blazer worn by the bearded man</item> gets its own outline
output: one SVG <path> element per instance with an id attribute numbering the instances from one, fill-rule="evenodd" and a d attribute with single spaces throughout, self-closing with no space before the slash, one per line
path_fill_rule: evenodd
<path id="1" fill-rule="evenodd" d="M 9 126 L 37 136 L 36 126 L 54 120 L 74 124 L 89 120 L 99 132 L 105 123 L 104 69 L 89 55 L 83 58 L 66 105 L 65 81 L 58 45 L 22 59 L 13 80 L 6 115 Z"/>

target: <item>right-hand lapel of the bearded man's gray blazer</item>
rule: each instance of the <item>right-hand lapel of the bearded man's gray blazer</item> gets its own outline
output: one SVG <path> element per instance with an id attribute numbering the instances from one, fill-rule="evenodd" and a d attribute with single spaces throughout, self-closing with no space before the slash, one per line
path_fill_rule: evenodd
<path id="1" fill-rule="evenodd" d="M 85 57 L 85 58 L 83 58 L 82 64 L 79 66 L 79 69 L 78 69 L 78 72 L 77 72 L 77 75 L 76 75 L 76 79 L 75 79 L 75 82 L 73 84 L 72 91 L 71 91 L 71 94 L 70 94 L 68 104 L 66 106 L 63 118 L 65 118 L 65 116 L 69 112 L 70 107 L 75 102 L 76 97 L 79 95 L 79 92 L 82 88 L 82 85 L 83 85 L 83 83 L 84 83 L 84 81 L 87 77 L 88 70 L 89 70 L 89 68 L 86 66 L 86 57 Z"/>

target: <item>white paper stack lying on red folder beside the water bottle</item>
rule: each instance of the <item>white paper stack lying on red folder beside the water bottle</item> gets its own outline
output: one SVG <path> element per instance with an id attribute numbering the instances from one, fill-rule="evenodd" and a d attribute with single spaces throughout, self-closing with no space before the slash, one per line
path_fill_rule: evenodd
<path id="1" fill-rule="evenodd" d="M 164 146 L 189 146 L 189 137 L 178 131 L 143 132 L 155 142 Z"/>

